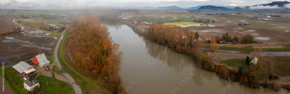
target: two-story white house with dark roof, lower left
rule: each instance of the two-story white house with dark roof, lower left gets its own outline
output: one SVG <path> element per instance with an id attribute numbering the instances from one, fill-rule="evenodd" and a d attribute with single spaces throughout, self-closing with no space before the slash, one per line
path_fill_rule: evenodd
<path id="1" fill-rule="evenodd" d="M 33 77 L 29 77 L 29 76 L 27 76 L 27 75 L 25 75 L 24 77 L 23 77 L 23 79 L 24 79 L 24 83 L 23 83 L 23 86 L 24 86 L 24 88 L 26 88 L 28 91 L 31 91 L 31 90 L 33 90 L 33 88 L 35 87 L 35 86 L 39 86 L 39 80 L 37 80 L 37 79 L 35 79 L 35 78 L 33 78 Z"/>

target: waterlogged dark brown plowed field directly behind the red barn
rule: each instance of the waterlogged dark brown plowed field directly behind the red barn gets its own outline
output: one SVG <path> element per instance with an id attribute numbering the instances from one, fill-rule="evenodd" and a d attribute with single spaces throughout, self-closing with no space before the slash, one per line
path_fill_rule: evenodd
<path id="1" fill-rule="evenodd" d="M 56 41 L 57 37 L 28 34 L 0 36 L 0 61 L 9 66 L 32 59 L 39 53 L 50 57 Z"/>

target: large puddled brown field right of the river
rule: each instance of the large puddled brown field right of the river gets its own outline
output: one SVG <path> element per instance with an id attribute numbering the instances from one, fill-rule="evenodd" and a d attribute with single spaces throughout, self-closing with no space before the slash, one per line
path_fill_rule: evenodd
<path id="1" fill-rule="evenodd" d="M 273 43 L 273 42 L 289 42 L 290 41 L 290 32 L 283 32 L 278 30 L 269 30 L 262 28 L 253 28 L 247 26 L 219 26 L 211 28 L 193 28 L 193 31 L 198 31 L 200 38 L 202 40 L 208 40 L 212 36 L 222 36 L 223 34 L 228 33 L 231 37 L 237 35 L 241 38 L 247 33 L 254 36 L 254 40 L 257 42 L 263 43 Z M 280 35 L 281 34 L 281 35 Z"/>

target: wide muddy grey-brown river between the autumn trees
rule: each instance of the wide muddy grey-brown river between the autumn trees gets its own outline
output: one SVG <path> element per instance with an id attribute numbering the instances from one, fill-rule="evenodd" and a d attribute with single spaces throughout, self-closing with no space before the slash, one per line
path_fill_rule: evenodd
<path id="1" fill-rule="evenodd" d="M 126 25 L 103 23 L 124 53 L 119 75 L 131 94 L 289 94 L 281 88 L 248 88 L 197 67 L 188 55 L 176 53 L 137 35 Z"/>

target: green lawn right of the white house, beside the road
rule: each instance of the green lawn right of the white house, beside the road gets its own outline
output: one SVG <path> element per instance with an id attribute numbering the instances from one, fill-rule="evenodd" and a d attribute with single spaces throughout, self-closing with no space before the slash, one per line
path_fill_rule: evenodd
<path id="1" fill-rule="evenodd" d="M 39 75 L 37 78 L 40 82 L 41 93 L 46 94 L 46 90 L 49 94 L 75 94 L 75 91 L 72 91 L 72 87 L 65 83 L 64 86 L 61 86 L 61 81 L 54 79 L 55 82 L 52 82 L 51 77 L 44 75 Z M 47 85 L 46 85 L 47 82 Z"/>

